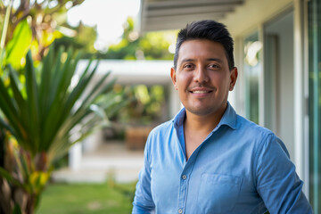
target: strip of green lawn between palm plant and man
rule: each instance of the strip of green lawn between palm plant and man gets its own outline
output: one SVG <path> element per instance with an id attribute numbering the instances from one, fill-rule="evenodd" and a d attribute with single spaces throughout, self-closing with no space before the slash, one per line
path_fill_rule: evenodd
<path id="1" fill-rule="evenodd" d="M 135 185 L 50 184 L 36 214 L 128 214 L 132 210 Z"/>

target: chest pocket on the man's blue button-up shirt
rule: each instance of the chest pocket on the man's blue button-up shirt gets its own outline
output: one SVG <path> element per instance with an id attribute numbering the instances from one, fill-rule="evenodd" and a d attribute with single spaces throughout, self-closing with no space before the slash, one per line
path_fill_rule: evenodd
<path id="1" fill-rule="evenodd" d="M 197 202 L 200 213 L 228 213 L 235 207 L 243 178 L 202 174 Z"/>

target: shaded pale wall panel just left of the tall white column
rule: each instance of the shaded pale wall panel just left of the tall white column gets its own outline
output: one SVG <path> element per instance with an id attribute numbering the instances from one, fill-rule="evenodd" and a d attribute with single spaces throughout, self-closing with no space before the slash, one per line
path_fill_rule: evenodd
<path id="1" fill-rule="evenodd" d="M 273 131 L 280 136 L 289 150 L 292 161 L 294 160 L 294 68 L 293 68 L 293 12 L 284 14 L 284 16 L 269 23 L 265 27 L 265 33 L 277 35 L 279 38 L 276 77 L 271 83 L 268 83 L 266 90 L 271 91 L 271 86 L 276 87 L 278 96 L 276 115 L 268 115 L 276 120 L 277 128 Z M 268 55 L 266 56 L 268 57 Z M 269 74 L 267 74 L 269 75 Z M 278 86 L 273 86 L 276 83 Z"/>

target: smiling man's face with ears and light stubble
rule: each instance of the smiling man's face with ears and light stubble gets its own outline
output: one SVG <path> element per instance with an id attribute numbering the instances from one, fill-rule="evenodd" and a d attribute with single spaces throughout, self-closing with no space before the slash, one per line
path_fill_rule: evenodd
<path id="1" fill-rule="evenodd" d="M 212 115 L 225 111 L 228 91 L 235 86 L 237 70 L 229 70 L 223 45 L 194 39 L 181 45 L 177 69 L 172 68 L 170 76 L 186 111 Z"/>

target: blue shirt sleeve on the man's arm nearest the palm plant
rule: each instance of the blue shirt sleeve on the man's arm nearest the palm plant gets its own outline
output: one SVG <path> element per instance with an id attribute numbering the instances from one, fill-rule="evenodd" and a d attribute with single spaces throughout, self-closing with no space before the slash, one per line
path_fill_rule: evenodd
<path id="1" fill-rule="evenodd" d="M 154 213 L 154 202 L 151 192 L 151 167 L 148 161 L 150 136 L 144 148 L 144 167 L 139 173 L 132 214 Z"/>

